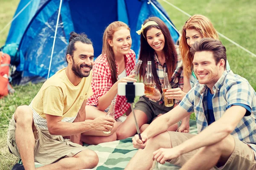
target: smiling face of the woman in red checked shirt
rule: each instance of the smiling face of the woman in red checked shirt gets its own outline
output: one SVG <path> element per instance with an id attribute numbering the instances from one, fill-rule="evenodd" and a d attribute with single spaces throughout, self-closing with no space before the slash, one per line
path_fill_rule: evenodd
<path id="1" fill-rule="evenodd" d="M 131 49 L 131 34 L 127 28 L 122 27 L 113 34 L 113 40 L 108 40 L 113 48 L 115 57 L 128 54 Z"/>

